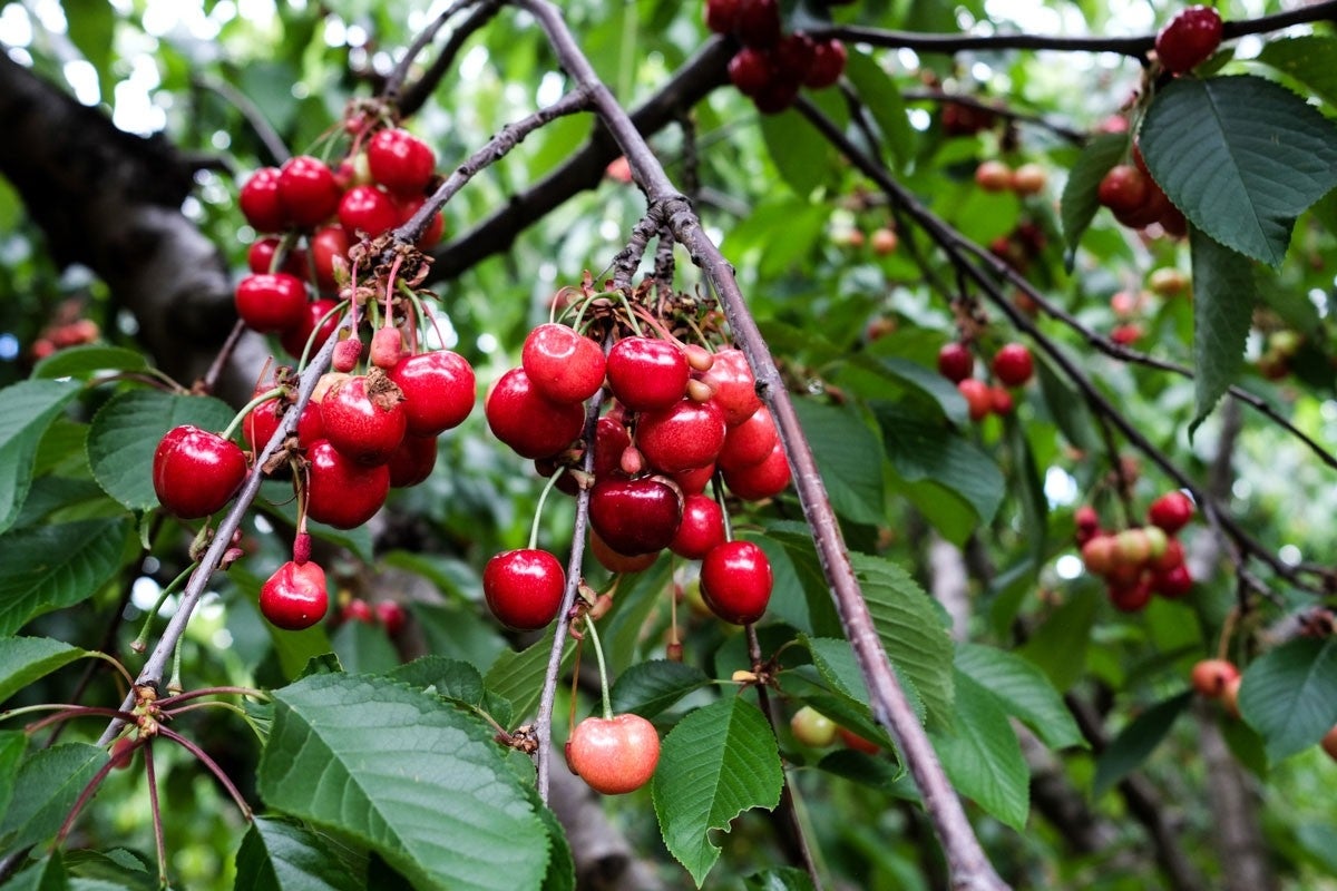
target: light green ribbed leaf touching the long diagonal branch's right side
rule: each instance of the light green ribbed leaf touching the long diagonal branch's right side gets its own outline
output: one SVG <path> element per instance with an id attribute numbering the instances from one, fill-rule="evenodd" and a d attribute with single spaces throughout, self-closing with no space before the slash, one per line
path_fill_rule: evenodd
<path id="1" fill-rule="evenodd" d="M 882 648 L 924 697 L 929 723 L 951 725 L 952 637 L 933 600 L 893 562 L 850 554 Z"/>

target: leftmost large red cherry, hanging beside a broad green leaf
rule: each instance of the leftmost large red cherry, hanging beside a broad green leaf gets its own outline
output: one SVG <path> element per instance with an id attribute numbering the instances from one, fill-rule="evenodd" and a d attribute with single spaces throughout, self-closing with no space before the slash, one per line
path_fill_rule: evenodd
<path id="1" fill-rule="evenodd" d="M 227 504 L 246 478 L 241 446 L 217 433 L 180 425 L 154 450 L 154 492 L 180 520 L 207 517 Z"/>

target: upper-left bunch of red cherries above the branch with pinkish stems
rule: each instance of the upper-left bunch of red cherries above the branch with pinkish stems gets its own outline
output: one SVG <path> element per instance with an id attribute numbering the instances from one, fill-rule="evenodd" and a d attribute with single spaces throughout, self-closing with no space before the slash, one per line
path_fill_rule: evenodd
<path id="1" fill-rule="evenodd" d="M 365 127 L 362 118 L 352 120 L 350 127 Z M 436 154 L 398 128 L 376 131 L 365 151 L 358 139 L 336 167 L 299 155 L 255 171 L 238 203 L 262 235 L 247 252 L 251 274 L 237 285 L 237 314 L 250 329 L 277 334 L 293 358 L 320 349 L 338 326 L 349 247 L 408 222 L 435 180 Z M 443 231 L 437 212 L 418 247 L 435 244 Z"/>

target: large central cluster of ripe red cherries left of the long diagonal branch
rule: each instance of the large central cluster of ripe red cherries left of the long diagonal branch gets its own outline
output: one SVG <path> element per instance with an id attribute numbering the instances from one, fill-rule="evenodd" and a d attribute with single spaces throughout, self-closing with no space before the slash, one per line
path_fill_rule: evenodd
<path id="1" fill-rule="evenodd" d="M 584 299 L 607 302 L 588 287 Z M 664 549 L 701 560 L 710 609 L 725 621 L 757 621 L 770 600 L 770 562 L 755 544 L 731 540 L 705 490 L 717 472 L 749 501 L 787 488 L 775 423 L 739 350 L 683 345 L 647 321 L 659 337 L 623 323 L 584 334 L 560 322 L 533 329 L 520 367 L 488 394 L 488 425 L 541 474 L 560 472 L 560 490 L 590 490 L 590 549 L 606 569 L 644 569 Z M 587 402 L 604 387 L 608 410 L 587 437 Z M 592 473 L 583 470 L 587 450 Z M 552 621 L 566 588 L 562 564 L 533 544 L 492 557 L 483 574 L 492 612 L 517 629 Z"/>

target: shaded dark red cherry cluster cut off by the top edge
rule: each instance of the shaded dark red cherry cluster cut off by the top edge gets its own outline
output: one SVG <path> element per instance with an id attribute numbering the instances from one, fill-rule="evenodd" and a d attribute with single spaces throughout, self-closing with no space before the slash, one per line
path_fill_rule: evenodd
<path id="1" fill-rule="evenodd" d="M 845 44 L 786 35 L 778 0 L 706 0 L 706 27 L 742 44 L 729 60 L 729 80 L 766 115 L 789 108 L 801 88 L 825 90 L 845 72 Z"/>

